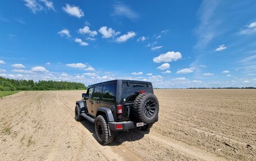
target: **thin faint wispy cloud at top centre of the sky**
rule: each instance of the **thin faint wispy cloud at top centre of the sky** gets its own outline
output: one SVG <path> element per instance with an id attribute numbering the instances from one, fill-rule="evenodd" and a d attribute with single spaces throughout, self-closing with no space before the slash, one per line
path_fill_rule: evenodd
<path id="1" fill-rule="evenodd" d="M 114 5 L 114 13 L 115 16 L 125 16 L 130 20 L 138 19 L 138 13 L 132 11 L 129 7 L 125 6 L 122 3 L 117 3 Z"/>

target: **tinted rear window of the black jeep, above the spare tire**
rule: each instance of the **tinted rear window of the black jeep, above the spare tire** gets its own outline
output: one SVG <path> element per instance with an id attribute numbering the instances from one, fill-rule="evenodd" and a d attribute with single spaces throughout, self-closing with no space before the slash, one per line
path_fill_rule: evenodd
<path id="1" fill-rule="evenodd" d="M 140 91 L 145 91 L 147 93 L 153 93 L 151 84 L 141 84 L 141 83 L 129 83 L 126 82 L 122 84 L 122 100 L 126 99 L 126 102 L 133 102 Z"/>

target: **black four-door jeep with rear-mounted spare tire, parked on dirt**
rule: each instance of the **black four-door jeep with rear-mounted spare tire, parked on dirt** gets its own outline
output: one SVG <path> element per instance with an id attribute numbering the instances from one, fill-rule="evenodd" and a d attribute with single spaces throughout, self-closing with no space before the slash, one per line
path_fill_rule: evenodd
<path id="1" fill-rule="evenodd" d="M 100 144 L 112 142 L 119 131 L 147 130 L 158 121 L 159 103 L 151 82 L 112 80 L 88 86 L 76 102 L 75 119 L 95 123 Z"/>

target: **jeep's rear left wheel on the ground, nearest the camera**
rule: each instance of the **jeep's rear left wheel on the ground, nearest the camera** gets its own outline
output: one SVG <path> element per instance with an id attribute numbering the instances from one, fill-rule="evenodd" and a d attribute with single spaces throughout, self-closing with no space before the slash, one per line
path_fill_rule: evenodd
<path id="1" fill-rule="evenodd" d="M 109 136 L 108 125 L 102 115 L 97 116 L 95 119 L 95 135 L 100 144 L 109 144 L 114 139 L 113 136 Z"/>

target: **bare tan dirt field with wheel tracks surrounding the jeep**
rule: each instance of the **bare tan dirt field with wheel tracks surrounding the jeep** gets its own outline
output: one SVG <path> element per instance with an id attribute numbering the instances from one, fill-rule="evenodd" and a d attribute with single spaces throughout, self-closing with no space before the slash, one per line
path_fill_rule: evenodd
<path id="1" fill-rule="evenodd" d="M 0 160 L 255 160 L 256 90 L 155 90 L 149 134 L 95 139 L 76 122 L 83 91 L 27 91 L 0 99 Z"/>

